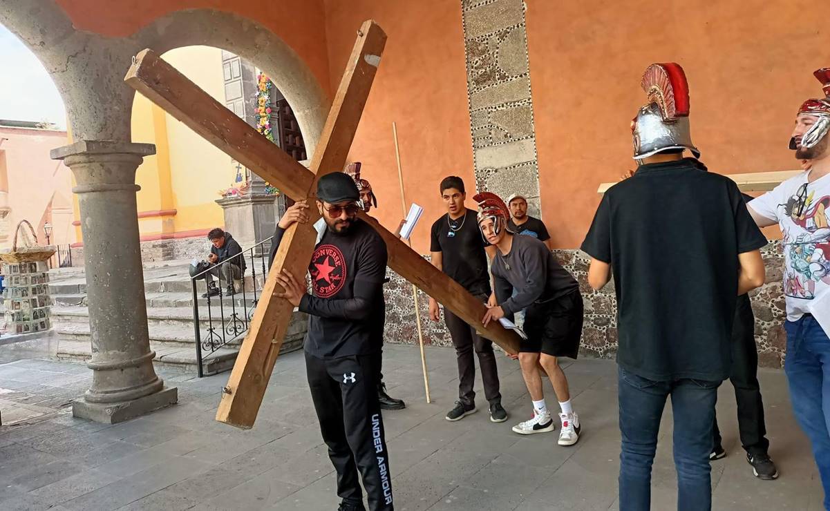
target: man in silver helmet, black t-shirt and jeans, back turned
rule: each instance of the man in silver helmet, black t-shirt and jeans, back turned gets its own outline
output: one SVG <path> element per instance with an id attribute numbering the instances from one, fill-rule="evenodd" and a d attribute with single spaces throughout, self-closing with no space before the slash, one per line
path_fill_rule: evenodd
<path id="1" fill-rule="evenodd" d="M 582 250 L 588 283 L 613 279 L 620 511 L 651 506 L 652 463 L 666 398 L 674 417 L 677 501 L 711 509 L 712 422 L 717 388 L 730 374 L 730 335 L 739 294 L 764 283 L 766 245 L 729 178 L 706 172 L 691 143 L 686 75 L 649 66 L 649 104 L 632 124 L 632 178 L 603 196 Z"/>

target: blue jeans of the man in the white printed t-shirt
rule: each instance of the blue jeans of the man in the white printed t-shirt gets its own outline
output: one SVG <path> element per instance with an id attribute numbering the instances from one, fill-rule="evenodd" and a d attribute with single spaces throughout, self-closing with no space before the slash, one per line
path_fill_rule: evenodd
<path id="1" fill-rule="evenodd" d="M 812 315 L 788 321 L 784 329 L 789 399 L 798 424 L 813 444 L 824 487 L 824 508 L 830 509 L 830 339 Z"/>

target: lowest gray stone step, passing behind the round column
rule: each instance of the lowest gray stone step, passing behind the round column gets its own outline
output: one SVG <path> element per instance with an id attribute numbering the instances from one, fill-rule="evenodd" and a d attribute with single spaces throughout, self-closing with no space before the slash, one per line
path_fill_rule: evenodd
<path id="1" fill-rule="evenodd" d="M 188 372 L 198 370 L 196 350 L 193 347 L 182 348 L 170 343 L 150 343 L 150 349 L 155 352 L 153 363 L 156 366 L 178 367 Z M 203 374 L 208 376 L 231 369 L 237 359 L 237 353 L 237 348 L 219 348 L 210 356 L 204 357 Z M 58 342 L 56 358 L 86 362 L 92 358 L 90 342 L 61 338 Z"/>

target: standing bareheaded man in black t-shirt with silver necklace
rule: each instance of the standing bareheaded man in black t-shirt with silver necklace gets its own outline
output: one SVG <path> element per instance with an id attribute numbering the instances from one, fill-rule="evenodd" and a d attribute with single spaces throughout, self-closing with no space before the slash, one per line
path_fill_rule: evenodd
<path id="1" fill-rule="evenodd" d="M 441 197 L 447 205 L 447 214 L 432 224 L 429 249 L 432 265 L 481 302 L 486 302 L 491 292 L 487 255 L 495 253 L 495 248 L 481 236 L 476 223 L 476 212 L 464 206 L 466 192 L 461 178 L 444 178 L 441 182 Z M 441 319 L 438 303 L 432 298 L 429 299 L 429 318 L 432 321 Z M 506 421 L 507 412 L 501 406 L 499 372 L 492 341 L 478 335 L 476 328 L 447 309 L 444 309 L 444 321 L 450 331 L 452 344 L 456 347 L 458 362 L 458 401 L 447 413 L 447 421 L 459 421 L 476 411 L 476 392 L 472 390 L 476 381 L 473 350 L 478 355 L 478 365 L 481 367 L 484 396 L 490 403 L 490 420 Z"/>

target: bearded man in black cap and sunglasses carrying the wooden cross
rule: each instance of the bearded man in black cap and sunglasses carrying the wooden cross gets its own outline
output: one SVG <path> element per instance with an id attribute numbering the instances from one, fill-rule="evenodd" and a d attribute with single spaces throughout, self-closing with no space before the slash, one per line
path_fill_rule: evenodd
<path id="1" fill-rule="evenodd" d="M 309 272 L 314 290 L 283 270 L 277 282 L 287 299 L 309 314 L 305 371 L 320 433 L 337 470 L 339 511 L 363 511 L 363 477 L 369 509 L 393 509 L 392 476 L 378 404 L 373 307 L 382 299 L 387 251 L 376 231 L 357 217 L 359 192 L 352 178 L 330 173 L 317 182 L 316 205 L 325 231 Z M 274 233 L 271 261 L 285 230 L 309 219 L 308 204 L 296 202 Z"/>

